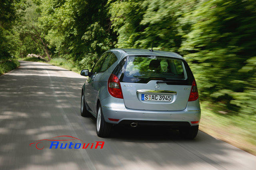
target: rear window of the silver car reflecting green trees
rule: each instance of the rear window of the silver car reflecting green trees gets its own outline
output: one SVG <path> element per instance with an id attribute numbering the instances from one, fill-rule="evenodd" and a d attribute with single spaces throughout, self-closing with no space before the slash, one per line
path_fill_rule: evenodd
<path id="1" fill-rule="evenodd" d="M 172 84 L 187 84 L 192 76 L 186 62 L 163 56 L 127 56 L 119 63 L 115 71 L 120 73 L 120 82 L 131 83 L 164 80 L 172 81 Z"/>

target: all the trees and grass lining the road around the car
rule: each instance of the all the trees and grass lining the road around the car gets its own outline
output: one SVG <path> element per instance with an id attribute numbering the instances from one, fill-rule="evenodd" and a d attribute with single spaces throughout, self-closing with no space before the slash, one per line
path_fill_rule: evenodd
<path id="1" fill-rule="evenodd" d="M 78 72 L 153 40 L 179 53 L 200 91 L 200 129 L 256 154 L 255 0 L 1 0 L 0 10 L 2 63 L 34 53 Z"/>

